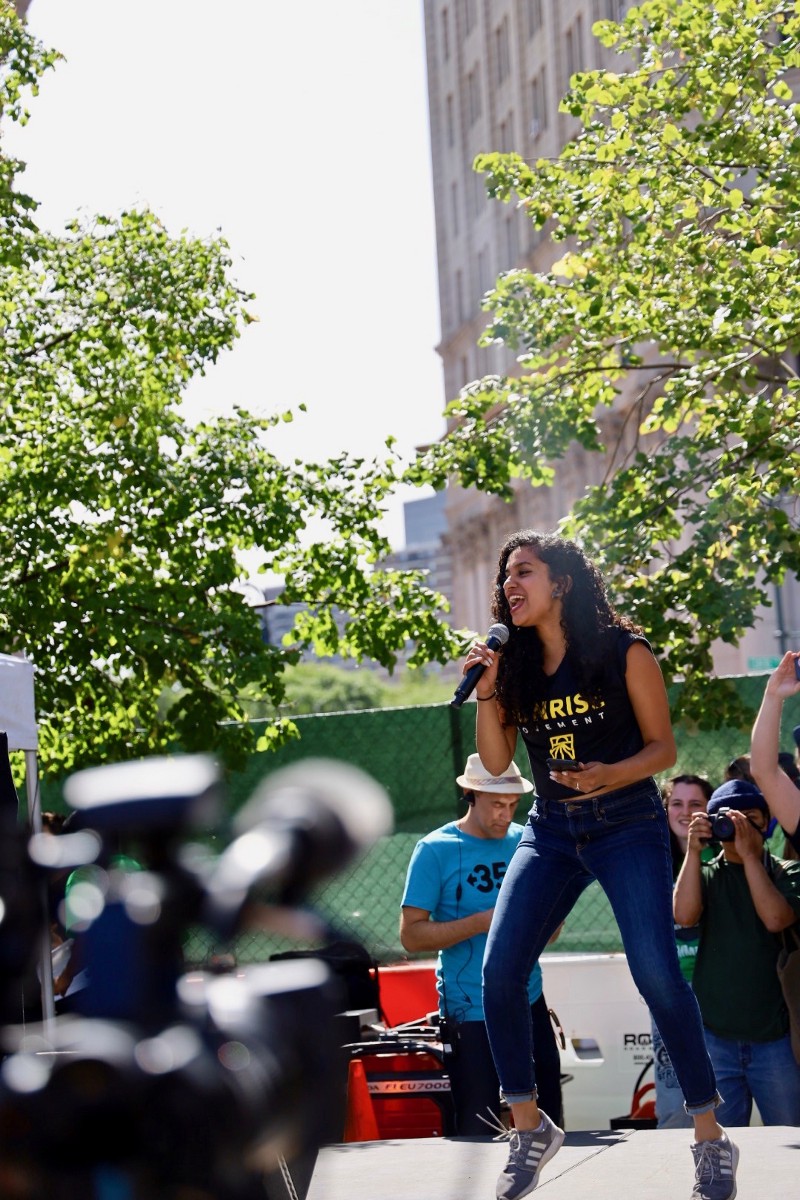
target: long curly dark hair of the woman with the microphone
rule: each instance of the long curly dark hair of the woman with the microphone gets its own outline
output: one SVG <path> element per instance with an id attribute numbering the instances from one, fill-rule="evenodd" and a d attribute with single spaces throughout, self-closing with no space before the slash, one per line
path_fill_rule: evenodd
<path id="1" fill-rule="evenodd" d="M 615 628 L 642 632 L 638 625 L 616 612 L 600 571 L 577 542 L 535 529 L 511 534 L 500 548 L 492 596 L 493 617 L 509 629 L 509 641 L 498 667 L 497 694 L 511 725 L 529 722 L 536 698 L 545 690 L 541 638 L 535 629 L 515 626 L 503 588 L 509 558 L 522 546 L 534 551 L 547 566 L 553 583 L 561 588 L 561 628 L 583 695 L 595 697 L 599 694 L 607 635 Z"/>

